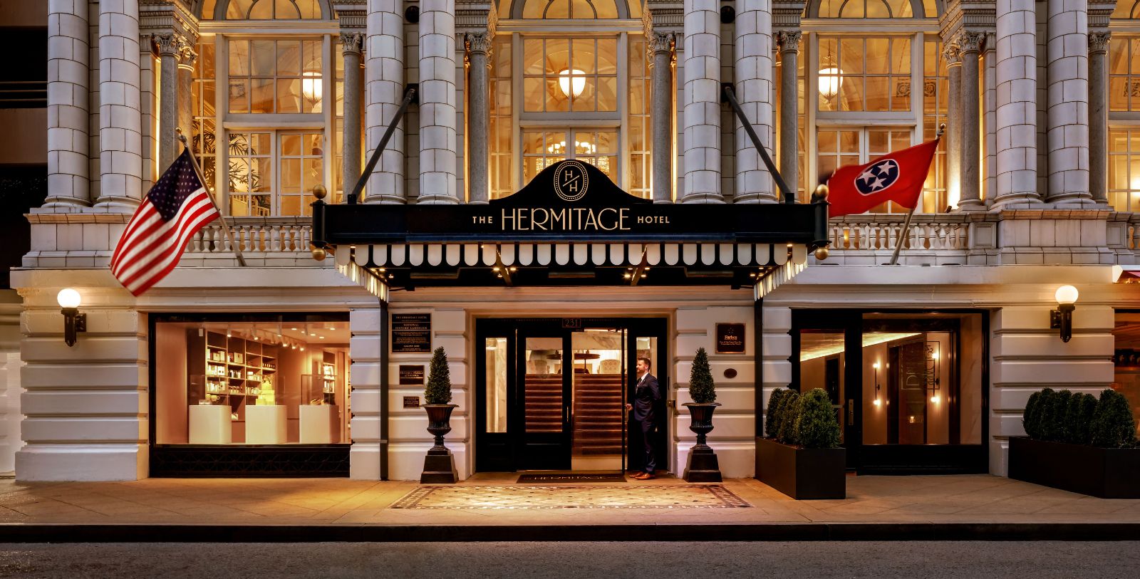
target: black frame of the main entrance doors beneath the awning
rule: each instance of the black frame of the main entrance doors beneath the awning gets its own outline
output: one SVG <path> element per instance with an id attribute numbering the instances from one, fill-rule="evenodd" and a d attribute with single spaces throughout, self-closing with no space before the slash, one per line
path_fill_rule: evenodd
<path id="1" fill-rule="evenodd" d="M 570 351 L 570 335 L 576 331 L 586 328 L 616 328 L 626 332 L 626 380 L 625 399 L 633 395 L 633 388 L 636 385 L 636 368 L 633 362 L 637 357 L 637 337 L 649 336 L 658 339 L 657 360 L 653 360 L 653 374 L 662 388 L 661 408 L 659 416 L 668 416 L 665 400 L 668 398 L 669 366 L 669 342 L 666 339 L 668 319 L 665 317 L 653 318 L 479 318 L 475 320 L 475 384 L 474 384 L 474 413 L 475 430 L 475 472 L 515 472 L 524 470 L 526 451 L 523 448 L 524 433 L 524 407 L 523 390 L 521 388 L 521 365 L 519 352 L 522 351 L 520 339 L 527 335 L 555 334 L 564 337 L 563 346 Z M 507 432 L 487 432 L 487 358 L 484 356 L 486 341 L 492 337 L 506 340 L 508 361 L 506 364 L 507 383 Z M 563 403 L 570 403 L 567 388 L 569 374 L 563 373 Z M 661 419 L 658 430 L 658 463 L 661 470 L 668 467 L 668 419 Z M 567 429 L 563 423 L 563 429 Z M 622 467 L 629 459 L 629 445 L 636 442 L 630 437 L 624 437 Z M 569 468 L 569 465 L 567 465 Z"/>

